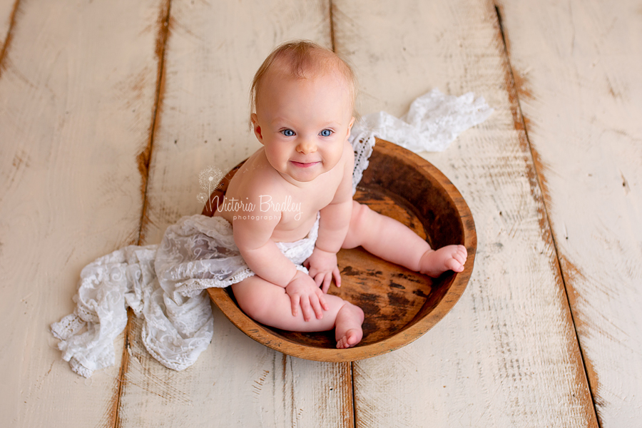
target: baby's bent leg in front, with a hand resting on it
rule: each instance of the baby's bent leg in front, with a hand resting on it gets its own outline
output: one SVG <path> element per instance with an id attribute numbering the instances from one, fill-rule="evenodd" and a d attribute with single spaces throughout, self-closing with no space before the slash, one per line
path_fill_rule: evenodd
<path id="1" fill-rule="evenodd" d="M 335 295 L 326 295 L 328 310 L 323 317 L 303 320 L 302 311 L 292 315 L 290 296 L 285 288 L 255 275 L 232 286 L 240 308 L 253 320 L 294 332 L 322 332 L 335 329 L 338 348 L 357 345 L 363 337 L 363 311 Z"/>

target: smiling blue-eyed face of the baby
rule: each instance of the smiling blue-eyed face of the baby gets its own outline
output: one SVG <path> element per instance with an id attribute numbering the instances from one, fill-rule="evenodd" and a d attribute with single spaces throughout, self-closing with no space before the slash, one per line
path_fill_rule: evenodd
<path id="1" fill-rule="evenodd" d="M 350 92 L 338 73 L 314 78 L 268 73 L 252 115 L 267 161 L 291 183 L 332 170 L 353 121 Z"/>

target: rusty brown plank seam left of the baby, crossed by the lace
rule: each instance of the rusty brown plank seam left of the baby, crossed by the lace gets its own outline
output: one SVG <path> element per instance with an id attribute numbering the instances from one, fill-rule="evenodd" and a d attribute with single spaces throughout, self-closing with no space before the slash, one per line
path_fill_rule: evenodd
<path id="1" fill-rule="evenodd" d="M 151 118 L 151 126 L 149 131 L 149 141 L 143 152 L 138 155 L 138 170 L 141 172 L 141 179 L 144 183 L 143 188 L 143 208 L 141 210 L 141 219 L 138 222 L 138 242 L 136 245 L 142 245 L 145 239 L 143 235 L 143 227 L 147 218 L 148 206 L 148 185 L 149 185 L 149 165 L 151 162 L 151 155 L 153 153 L 154 136 L 156 134 L 156 124 L 158 113 L 161 108 L 161 100 L 163 96 L 163 73 L 165 72 L 165 47 L 167 46 L 167 39 L 169 35 L 170 26 L 170 11 L 171 0 L 165 0 L 159 21 L 160 28 L 158 29 L 158 36 L 156 37 L 156 56 L 158 58 L 158 72 L 156 77 L 156 96 L 154 98 L 153 113 Z M 143 186 L 141 186 L 143 187 Z M 129 350 L 130 350 L 130 334 L 133 332 L 132 317 L 133 311 L 128 310 L 127 325 L 125 328 L 125 346 L 123 347 L 123 357 L 121 358 L 121 370 L 118 374 L 118 390 L 114 399 L 113 410 L 113 428 L 121 427 L 120 410 L 121 410 L 121 397 L 123 394 L 123 384 L 125 383 L 125 375 L 129 367 Z"/>

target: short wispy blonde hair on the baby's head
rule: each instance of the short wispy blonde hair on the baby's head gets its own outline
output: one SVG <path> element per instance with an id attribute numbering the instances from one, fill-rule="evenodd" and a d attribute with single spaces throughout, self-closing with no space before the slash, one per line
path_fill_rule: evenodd
<path id="1" fill-rule="evenodd" d="M 352 116 L 357 117 L 355 104 L 357 100 L 357 77 L 352 67 L 330 49 L 315 44 L 313 41 L 299 40 L 288 41 L 277 46 L 270 55 L 265 58 L 263 64 L 256 71 L 250 86 L 250 115 L 256 112 L 257 96 L 261 89 L 261 83 L 270 68 L 278 63 L 284 65 L 285 72 L 292 77 L 309 78 L 317 76 L 318 73 L 327 71 L 339 71 L 345 78 L 350 91 L 350 102 L 352 103 Z M 252 122 L 250 120 L 250 128 Z"/>

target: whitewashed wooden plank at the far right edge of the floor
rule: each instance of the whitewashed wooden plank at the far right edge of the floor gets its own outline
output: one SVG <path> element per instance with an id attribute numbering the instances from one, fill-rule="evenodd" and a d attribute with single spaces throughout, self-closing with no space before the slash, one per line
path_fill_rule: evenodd
<path id="1" fill-rule="evenodd" d="M 642 421 L 642 7 L 501 1 L 593 399 Z"/>

